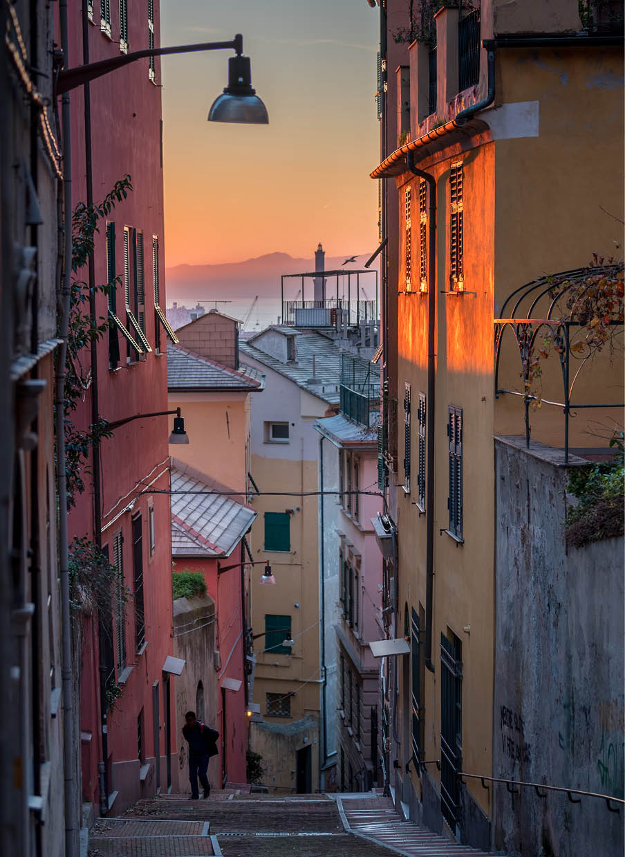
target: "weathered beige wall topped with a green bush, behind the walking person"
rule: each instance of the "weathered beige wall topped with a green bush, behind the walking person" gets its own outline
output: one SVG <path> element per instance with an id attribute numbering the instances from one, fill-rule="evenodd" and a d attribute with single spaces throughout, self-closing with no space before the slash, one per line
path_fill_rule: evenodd
<path id="1" fill-rule="evenodd" d="M 213 661 L 216 650 L 215 602 L 210 596 L 176 598 L 174 602 L 174 656 L 187 663 L 182 674 L 176 676 L 176 713 L 174 722 L 180 744 L 177 767 L 183 790 L 188 787 L 188 745 L 182 737 L 185 712 L 195 711 L 208 726 L 219 728 L 217 671 Z M 210 624 L 209 624 L 210 623 Z M 203 627 L 200 627 L 203 626 Z M 197 630 L 196 630 L 197 628 Z M 193 630 L 192 630 L 193 629 Z M 199 710 L 197 691 L 199 681 L 204 686 L 204 710 Z M 217 741 L 217 746 L 221 742 Z M 215 788 L 221 786 L 220 756 L 213 756 L 208 765 L 208 779 Z"/>

